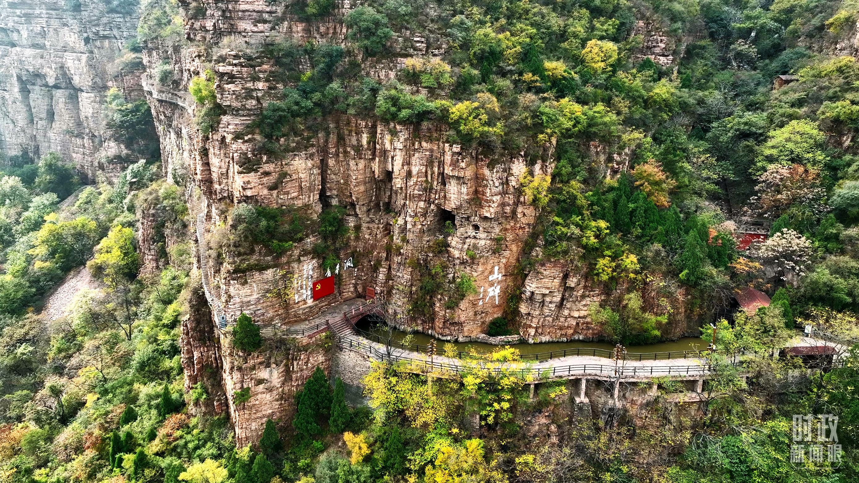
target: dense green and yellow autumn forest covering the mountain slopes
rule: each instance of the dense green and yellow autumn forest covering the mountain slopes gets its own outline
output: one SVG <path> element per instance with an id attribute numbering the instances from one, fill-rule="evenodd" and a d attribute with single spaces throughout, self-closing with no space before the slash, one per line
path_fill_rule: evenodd
<path id="1" fill-rule="evenodd" d="M 187 46 L 181 22 L 205 7 L 181 7 L 144 2 L 127 55 L 147 43 Z M 339 7 L 283 9 L 314 21 Z M 673 63 L 636 56 L 643 15 L 682 39 Z M 145 158 L 130 156 L 115 179 L 84 178 L 56 153 L 2 153 L 0 483 L 859 480 L 859 61 L 820 47 L 855 36 L 859 3 L 372 0 L 342 21 L 345 47 L 286 36 L 229 47 L 273 59 L 267 75 L 284 86 L 240 136 L 278 159 L 326 119 L 350 114 L 442 126 L 449 142 L 492 162 L 551 160 L 551 175 L 520 180 L 537 215 L 514 276 L 564 259 L 610 289 L 685 293 L 685 313 L 706 320 L 702 346 L 717 349 L 706 356 L 713 377 L 701 400 L 669 401 L 684 388 L 666 378 L 635 414 L 572 417 L 569 384 L 530 395 L 529 381 L 505 369 L 521 354 L 498 347 L 472 351 L 459 378 L 375 362 L 367 405 L 347 405 L 343 381 L 318 367 L 290 420 L 268 420 L 259 444 L 237 447 L 227 414 L 194 410 L 215 396 L 183 374 L 180 325 L 202 293 L 195 188 L 153 155 L 146 101 L 113 91 L 108 129 Z M 408 59 L 387 82 L 366 76 L 362 62 L 393 55 L 405 30 L 441 36 L 443 55 Z M 157 81 L 171 85 L 166 62 Z M 225 112 L 215 73 L 195 77 L 188 94 L 198 104 L 193 129 L 208 135 Z M 600 147 L 624 163 L 606 172 Z M 739 246 L 740 219 L 768 233 Z M 222 228 L 216 250 L 248 266 L 259 247 L 279 256 L 319 235 L 314 257 L 329 269 L 356 230 L 341 207 L 311 216 L 238 202 Z M 439 240 L 427 253 L 445 250 Z M 469 275 L 448 283 L 441 262 L 414 263 L 416 317 L 429 317 L 434 300 L 455 307 L 476 293 Z M 87 287 L 49 317 L 58 285 L 78 275 Z M 771 294 L 770 305 L 716 317 L 740 287 Z M 507 294 L 490 335 L 516 332 L 519 300 Z M 649 311 L 634 289 L 619 305 L 592 305 L 589 317 L 606 341 L 645 344 L 662 339 L 668 311 L 679 309 Z M 838 341 L 837 364 L 776 357 L 806 325 Z M 228 332 L 241 353 L 271 348 L 251 317 Z M 438 351 L 455 354 L 442 343 Z M 742 370 L 735 354 L 746 356 Z M 239 406 L 251 393 L 227 396 Z M 840 461 L 793 461 L 795 414 L 838 416 Z"/>

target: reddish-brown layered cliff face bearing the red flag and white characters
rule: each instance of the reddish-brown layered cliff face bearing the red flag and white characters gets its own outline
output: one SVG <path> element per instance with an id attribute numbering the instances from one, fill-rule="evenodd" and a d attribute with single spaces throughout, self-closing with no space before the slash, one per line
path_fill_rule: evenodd
<path id="1" fill-rule="evenodd" d="M 588 318 L 588 306 L 620 297 L 625 287 L 610 290 L 595 284 L 588 267 L 570 263 L 541 263 L 530 273 L 514 275 L 527 255 L 526 246 L 533 245 L 528 239 L 539 245 L 539 236 L 532 233 L 537 214 L 521 193 L 521 178 L 551 174 L 551 143 L 537 147 L 544 155 L 536 164 L 528 163 L 524 154 L 492 160 L 477 149 L 448 142 L 446 126 L 389 124 L 338 114 L 303 133 L 301 148 L 273 159 L 245 131 L 268 101 L 278 99 L 283 85 L 268 80 L 274 69 L 271 59 L 247 52 L 277 39 L 345 45 L 342 18 L 349 5 L 341 4 L 332 16 L 316 22 L 299 21 L 283 13 L 288 9 L 282 3 L 265 0 L 183 8 L 192 12 L 186 13 L 185 43 L 151 43 L 144 51 L 148 79 L 155 78 L 156 66 L 165 59 L 174 71 L 166 85 L 153 83 L 148 99 L 163 166 L 198 188 L 200 196 L 189 207 L 192 214 L 205 213 L 205 236 L 212 239 L 207 242 L 210 260 L 224 257 L 211 263 L 208 275 L 228 321 L 244 311 L 256 323 L 289 326 L 373 288 L 387 299 L 392 323 L 445 339 L 468 338 L 484 333 L 490 320 L 503 314 L 508 297 L 522 288 L 521 304 L 509 310 L 521 314 L 522 334 L 529 340 L 601 335 Z M 673 58 L 673 44 L 647 45 L 648 53 L 661 56 L 661 62 Z M 363 75 L 384 82 L 397 75 L 407 58 L 438 56 L 446 48 L 432 34 L 417 37 L 408 32 L 399 32 L 389 46 L 390 56 L 362 61 Z M 210 135 L 194 125 L 202 107 L 188 104 L 183 94 L 204 69 L 216 74 L 217 102 L 223 108 Z M 606 148 L 594 150 L 601 153 L 594 162 L 604 172 L 628 161 L 628 154 L 623 158 L 607 154 Z M 311 296 L 312 282 L 328 275 L 314 255 L 317 233 L 308 232 L 307 239 L 279 257 L 258 251 L 253 265 L 213 248 L 221 246 L 215 240 L 225 236 L 230 210 L 240 202 L 296 206 L 313 219 L 328 206 L 344 207 L 351 232 L 346 248 L 336 254 L 339 264 L 332 268 L 335 293 L 316 301 Z M 434 245 L 439 238 L 444 243 Z M 446 288 L 431 302 L 433 315 L 414 317 L 410 307 L 430 266 L 442 269 Z M 474 277 L 478 293 L 446 308 L 453 281 L 462 273 Z M 682 311 L 675 313 L 668 333 L 684 332 L 685 325 L 679 323 L 683 318 Z M 317 339 L 288 347 L 271 341 L 260 353 L 248 355 L 236 352 L 228 337 L 202 333 L 206 341 L 195 342 L 196 348 L 183 359 L 192 364 L 186 371 L 199 373 L 195 354 L 218 359 L 211 365 L 220 368 L 240 444 L 255 441 L 266 418 L 289 420 L 295 391 L 314 366 L 327 367 L 332 359 L 336 366 L 337 359 L 344 358 L 332 357 L 325 341 Z M 198 337 L 190 325 L 183 334 L 187 343 Z M 204 349 L 206 344 L 215 347 Z M 342 367 L 334 370 L 350 379 Z M 189 384 L 198 380 L 192 376 Z M 251 400 L 235 404 L 233 394 L 245 388 Z M 358 394 L 350 397 L 360 399 Z"/>

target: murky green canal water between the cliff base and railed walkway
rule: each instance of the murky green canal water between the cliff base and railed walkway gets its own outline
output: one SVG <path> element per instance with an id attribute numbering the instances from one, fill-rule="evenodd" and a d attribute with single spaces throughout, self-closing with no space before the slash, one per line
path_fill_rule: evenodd
<path id="1" fill-rule="evenodd" d="M 388 330 L 387 327 L 381 327 L 375 323 L 369 323 L 366 319 L 362 320 L 357 325 L 357 329 L 369 331 L 371 334 L 375 334 L 387 339 Z M 406 334 L 402 330 L 393 329 L 393 340 L 396 342 L 402 342 Z M 411 335 L 410 344 L 417 344 L 418 346 L 427 346 L 430 341 L 436 341 L 436 347 L 438 347 L 438 352 L 442 352 L 442 347 L 448 343 L 448 341 L 442 341 L 440 339 L 435 339 L 431 335 L 426 335 L 422 333 L 415 332 Z M 486 344 L 484 342 L 451 342 L 456 346 L 458 351 L 468 352 L 469 347 L 474 347 L 478 349 L 479 352 L 489 353 L 493 349 L 499 346 L 495 346 L 492 344 Z M 535 344 L 528 344 L 527 342 L 522 342 L 519 344 L 510 344 L 510 347 L 515 347 L 519 349 L 519 352 L 524 356 L 527 354 L 536 354 L 536 353 L 549 353 L 554 351 L 564 351 L 566 349 L 575 349 L 575 348 L 588 348 L 588 349 L 602 349 L 604 351 L 612 351 L 614 349 L 614 344 L 611 342 L 589 342 L 589 341 L 569 341 L 569 342 L 539 342 Z M 648 344 L 644 346 L 628 346 L 626 347 L 627 354 L 631 353 L 667 353 L 667 352 L 682 352 L 682 351 L 698 351 L 704 350 L 707 348 L 707 343 L 698 337 L 683 337 L 682 339 L 678 339 L 677 341 L 665 341 L 665 342 L 657 342 L 655 344 Z M 600 351 L 601 352 L 601 351 Z M 582 353 L 585 355 L 585 353 Z M 557 356 L 555 356 L 557 357 Z M 672 356 L 675 357 L 675 356 Z"/>

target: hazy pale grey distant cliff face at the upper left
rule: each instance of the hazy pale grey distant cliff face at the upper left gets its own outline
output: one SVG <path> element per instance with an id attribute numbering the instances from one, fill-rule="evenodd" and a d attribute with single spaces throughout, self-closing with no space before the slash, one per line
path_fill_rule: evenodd
<path id="1" fill-rule="evenodd" d="M 101 0 L 0 2 L 0 152 L 57 151 L 90 178 L 121 171 L 127 150 L 106 130 L 106 93 L 142 95 L 139 69 L 115 62 L 136 32 L 137 14 Z"/>

